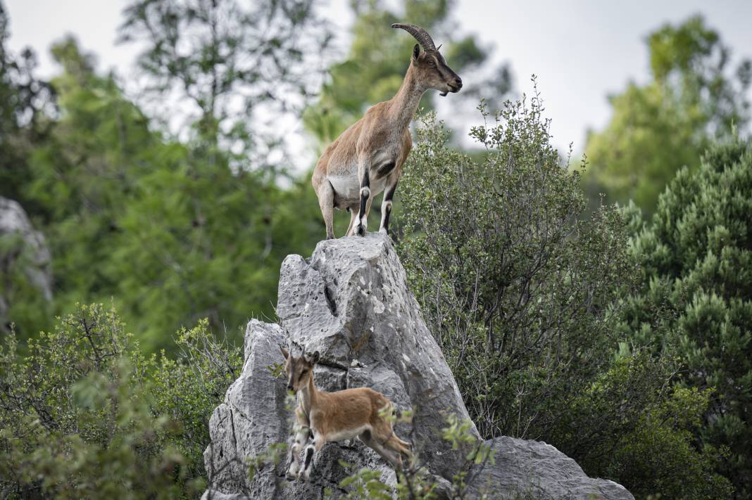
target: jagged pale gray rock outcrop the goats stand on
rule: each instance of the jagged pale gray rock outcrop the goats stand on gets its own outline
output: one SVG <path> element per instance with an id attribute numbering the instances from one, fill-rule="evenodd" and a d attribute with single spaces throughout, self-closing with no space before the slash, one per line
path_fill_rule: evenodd
<path id="1" fill-rule="evenodd" d="M 444 415 L 468 419 L 468 413 L 420 317 L 391 240 L 381 234 L 347 237 L 320 242 L 308 260 L 290 255 L 280 273 L 277 315 L 279 325 L 248 324 L 243 372 L 211 417 L 205 498 L 321 498 L 327 488 L 342 492 L 341 480 L 362 467 L 379 471 L 385 483 L 396 480 L 391 468 L 357 440 L 326 444 L 314 459 L 310 483 L 285 480 L 287 456 L 249 480 L 247 457 L 287 442 L 290 435 L 293 412 L 277 372 L 283 362 L 279 345 L 290 345 L 296 355 L 301 349 L 319 351 L 314 377 L 320 389 L 372 387 L 397 408 L 412 408 L 412 423 L 399 424 L 396 433 L 413 443 L 439 489 L 445 488 L 464 459 L 441 439 Z M 470 432 L 478 437 L 475 427 Z M 632 498 L 616 483 L 590 479 L 550 445 L 512 438 L 490 444 L 496 465 L 481 471 L 476 493 L 490 486 L 499 498 L 517 492 Z"/>

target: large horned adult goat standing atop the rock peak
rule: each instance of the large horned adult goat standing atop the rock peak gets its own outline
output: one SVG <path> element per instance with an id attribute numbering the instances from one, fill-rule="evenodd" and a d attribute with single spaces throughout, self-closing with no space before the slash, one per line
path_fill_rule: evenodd
<path id="1" fill-rule="evenodd" d="M 410 121 L 428 89 L 459 92 L 462 80 L 452 71 L 425 29 L 412 24 L 393 24 L 419 42 L 413 47 L 408 72 L 399 91 L 380 102 L 326 148 L 314 169 L 311 183 L 319 198 L 326 224 L 326 239 L 334 238 L 334 209 L 350 212 L 346 236 L 365 236 L 371 200 L 384 191 L 380 231 L 387 232 L 392 198 L 408 159 L 412 140 Z"/>

